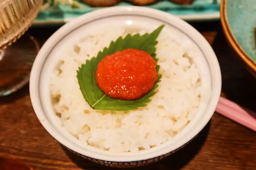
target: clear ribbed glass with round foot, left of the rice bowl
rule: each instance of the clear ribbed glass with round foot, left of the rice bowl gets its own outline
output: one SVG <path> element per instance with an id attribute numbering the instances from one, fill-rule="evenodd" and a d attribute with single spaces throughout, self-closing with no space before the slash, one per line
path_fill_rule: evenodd
<path id="1" fill-rule="evenodd" d="M 0 0 L 0 96 L 17 91 L 29 81 L 38 43 L 31 36 L 17 40 L 32 25 L 42 3 L 43 0 Z"/>

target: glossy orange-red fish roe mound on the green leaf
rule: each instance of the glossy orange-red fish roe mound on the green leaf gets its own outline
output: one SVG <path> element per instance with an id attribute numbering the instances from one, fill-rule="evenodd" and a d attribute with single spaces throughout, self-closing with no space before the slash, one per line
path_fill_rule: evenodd
<path id="1" fill-rule="evenodd" d="M 154 59 L 145 51 L 128 48 L 102 59 L 96 68 L 96 83 L 108 96 L 136 100 L 157 82 Z"/>

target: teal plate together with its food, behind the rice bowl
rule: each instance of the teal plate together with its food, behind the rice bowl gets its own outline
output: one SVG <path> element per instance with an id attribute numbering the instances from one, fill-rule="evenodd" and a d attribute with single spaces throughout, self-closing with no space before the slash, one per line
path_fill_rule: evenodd
<path id="1" fill-rule="evenodd" d="M 94 1 L 94 2 L 93 2 Z M 104 6 L 147 6 L 183 20 L 218 20 L 220 0 L 44 0 L 34 25 L 63 24 Z"/>

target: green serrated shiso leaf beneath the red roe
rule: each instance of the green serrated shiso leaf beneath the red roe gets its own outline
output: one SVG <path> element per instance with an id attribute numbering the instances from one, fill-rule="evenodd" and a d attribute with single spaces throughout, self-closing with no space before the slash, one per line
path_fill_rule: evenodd
<path id="1" fill-rule="evenodd" d="M 81 65 L 77 70 L 78 83 L 84 99 L 92 108 L 97 110 L 128 111 L 144 107 L 146 106 L 146 103 L 151 101 L 150 97 L 156 94 L 155 90 L 158 87 L 157 83 L 160 82 L 161 79 L 160 74 L 158 74 L 157 83 L 154 84 L 154 87 L 148 92 L 148 94 L 140 99 L 127 101 L 114 99 L 104 94 L 96 84 L 95 72 L 97 65 L 104 57 L 127 48 L 143 50 L 150 54 L 157 62 L 158 59 L 156 56 L 155 46 L 157 45 L 157 37 L 163 27 L 164 25 L 158 27 L 151 34 L 135 34 L 133 36 L 131 36 L 131 34 L 127 34 L 125 38 L 119 37 L 116 42 L 112 41 L 108 48 L 105 47 L 103 51 L 100 51 L 97 57 L 93 57 L 92 59 L 87 60 L 85 64 Z M 159 68 L 160 66 L 157 65 L 157 71 L 159 71 Z"/>

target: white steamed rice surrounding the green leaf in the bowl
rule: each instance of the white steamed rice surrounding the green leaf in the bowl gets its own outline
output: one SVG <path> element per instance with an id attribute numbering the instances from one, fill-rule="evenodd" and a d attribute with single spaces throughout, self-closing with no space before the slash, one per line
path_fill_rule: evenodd
<path id="1" fill-rule="evenodd" d="M 172 38 L 160 34 L 157 57 L 163 77 L 152 101 L 133 111 L 90 108 L 79 89 L 76 70 L 125 34 L 127 31 L 122 27 L 105 30 L 66 49 L 50 82 L 53 106 L 61 125 L 82 144 L 112 152 L 137 152 L 172 140 L 193 119 L 202 91 L 193 59 Z"/>

